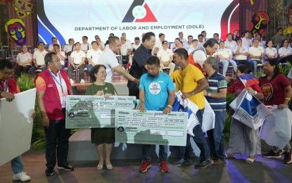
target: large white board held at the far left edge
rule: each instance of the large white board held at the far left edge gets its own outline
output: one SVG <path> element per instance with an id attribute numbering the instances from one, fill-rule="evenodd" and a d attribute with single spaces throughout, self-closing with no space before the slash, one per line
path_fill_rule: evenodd
<path id="1" fill-rule="evenodd" d="M 15 94 L 11 102 L 0 99 L 0 166 L 30 150 L 35 93 Z"/>

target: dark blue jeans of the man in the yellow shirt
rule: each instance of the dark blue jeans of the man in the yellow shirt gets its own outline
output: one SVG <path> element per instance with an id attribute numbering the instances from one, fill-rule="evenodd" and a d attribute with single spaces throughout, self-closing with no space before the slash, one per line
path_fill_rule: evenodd
<path id="1" fill-rule="evenodd" d="M 196 125 L 196 127 L 193 128 L 193 134 L 195 136 L 193 137 L 193 141 L 196 142 L 196 145 L 198 146 L 198 149 L 200 149 L 200 162 L 203 162 L 203 160 L 210 160 L 210 150 L 208 143 L 205 139 L 204 132 L 202 130 L 202 122 L 203 122 L 203 113 L 204 109 L 198 110 L 196 113 L 196 117 L 198 118 L 198 121 L 200 122 L 200 125 Z M 189 135 L 186 136 L 186 146 L 182 146 L 180 149 L 181 153 L 184 153 L 184 160 L 189 160 L 189 151 L 191 149 L 191 140 L 189 138 Z"/>

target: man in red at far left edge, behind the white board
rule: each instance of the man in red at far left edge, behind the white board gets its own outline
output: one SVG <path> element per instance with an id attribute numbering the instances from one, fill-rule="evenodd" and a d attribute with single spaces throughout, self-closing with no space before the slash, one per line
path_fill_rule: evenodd
<path id="1" fill-rule="evenodd" d="M 20 93 L 18 84 L 11 79 L 13 75 L 13 65 L 7 59 L 0 60 L 0 99 L 5 98 L 7 101 L 13 101 L 14 94 Z M 32 118 L 35 113 L 32 113 Z M 28 181 L 30 176 L 23 172 L 23 160 L 20 156 L 11 160 L 11 168 L 13 170 L 13 180 Z"/>

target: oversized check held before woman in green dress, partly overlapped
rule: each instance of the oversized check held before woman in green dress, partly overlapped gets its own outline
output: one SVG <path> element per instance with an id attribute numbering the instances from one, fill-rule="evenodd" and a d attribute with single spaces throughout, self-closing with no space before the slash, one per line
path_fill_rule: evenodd
<path id="1" fill-rule="evenodd" d="M 66 96 L 66 128 L 115 127 L 115 109 L 135 103 L 135 96 Z"/>

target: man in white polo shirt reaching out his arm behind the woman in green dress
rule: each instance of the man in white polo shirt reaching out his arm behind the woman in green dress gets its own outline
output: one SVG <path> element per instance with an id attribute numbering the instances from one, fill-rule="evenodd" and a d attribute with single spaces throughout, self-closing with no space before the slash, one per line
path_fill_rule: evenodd
<path id="1" fill-rule="evenodd" d="M 116 36 L 111 37 L 108 40 L 109 46 L 106 48 L 103 53 L 101 53 L 101 56 L 99 57 L 99 64 L 106 66 L 106 80 L 105 82 L 112 82 L 113 72 L 112 70 L 115 70 L 115 72 L 118 72 L 120 75 L 125 77 L 127 80 L 130 80 L 132 82 L 135 82 L 137 86 L 139 85 L 139 80 L 132 77 L 128 72 L 126 72 L 118 63 L 118 59 L 115 55 L 115 53 L 120 53 L 120 46 L 122 43 L 120 42 L 120 39 Z"/>

